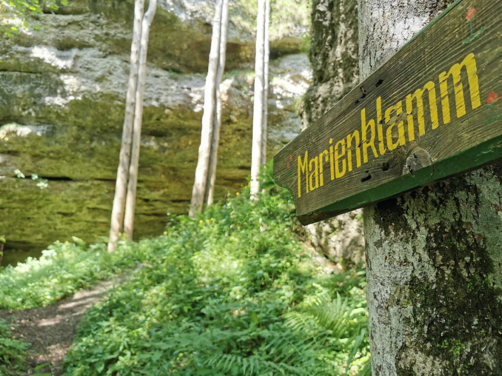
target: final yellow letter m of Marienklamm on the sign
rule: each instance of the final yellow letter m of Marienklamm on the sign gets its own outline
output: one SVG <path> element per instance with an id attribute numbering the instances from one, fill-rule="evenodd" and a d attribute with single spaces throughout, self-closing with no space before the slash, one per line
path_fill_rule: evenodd
<path id="1" fill-rule="evenodd" d="M 450 101 L 448 99 L 448 77 L 451 76 L 453 80 L 453 92 L 455 94 L 455 107 L 457 118 L 465 115 L 465 100 L 462 82 L 460 78 L 460 70 L 465 67 L 467 71 L 467 80 L 469 82 L 469 93 L 471 99 L 472 109 L 481 105 L 479 99 L 479 85 L 477 82 L 476 74 L 476 60 L 474 54 L 470 53 L 460 64 L 453 65 L 448 73 L 442 72 L 439 74 L 439 90 L 441 92 L 441 105 L 443 108 L 443 122 L 448 124 L 450 122 Z"/>

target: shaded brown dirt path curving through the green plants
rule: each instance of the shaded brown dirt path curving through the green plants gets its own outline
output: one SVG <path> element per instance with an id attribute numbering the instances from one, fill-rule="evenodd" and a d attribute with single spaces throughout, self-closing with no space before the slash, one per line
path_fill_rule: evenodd
<path id="1" fill-rule="evenodd" d="M 93 303 L 100 300 L 105 292 L 120 284 L 127 275 L 102 281 L 47 307 L 19 311 L 0 310 L 0 318 L 11 317 L 12 322 L 19 325 L 13 330 L 14 335 L 31 342 L 30 350 L 33 354 L 28 360 L 28 369 L 20 375 L 37 372 L 61 374 L 63 367 L 60 362 L 73 342 L 77 324 Z M 33 370 L 37 365 L 47 362 L 51 365 Z"/>

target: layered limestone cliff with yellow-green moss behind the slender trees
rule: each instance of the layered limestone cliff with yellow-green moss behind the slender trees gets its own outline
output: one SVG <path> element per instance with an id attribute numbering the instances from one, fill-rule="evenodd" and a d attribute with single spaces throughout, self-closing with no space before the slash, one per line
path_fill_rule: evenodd
<path id="1" fill-rule="evenodd" d="M 291 0 L 295 1 L 295 0 Z M 200 142 L 214 2 L 160 2 L 151 32 L 135 237 L 185 213 Z M 233 5 L 231 12 L 243 12 Z M 0 233 L 10 248 L 72 235 L 106 236 L 118 163 L 133 2 L 73 0 L 0 44 Z M 231 13 L 232 14 L 232 13 Z M 251 156 L 254 36 L 230 22 L 216 196 L 246 182 Z M 232 19 L 231 19 L 232 20 Z M 288 29 L 288 28 L 286 28 Z M 269 155 L 301 129 L 298 98 L 311 82 L 299 22 L 272 45 Z M 17 180 L 15 169 L 29 177 Z"/>

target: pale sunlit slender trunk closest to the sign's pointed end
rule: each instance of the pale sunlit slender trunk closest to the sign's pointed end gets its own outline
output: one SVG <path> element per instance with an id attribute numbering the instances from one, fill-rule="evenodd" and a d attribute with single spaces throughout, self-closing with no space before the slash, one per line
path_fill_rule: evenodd
<path id="1" fill-rule="evenodd" d="M 251 189 L 252 199 L 256 199 L 260 191 L 260 168 L 263 161 L 263 143 L 267 135 L 264 134 L 264 106 L 267 105 L 267 93 L 265 92 L 268 77 L 265 76 L 265 32 L 268 19 L 268 0 L 258 0 L 258 21 L 256 32 L 256 60 L 255 60 L 255 102 L 253 106 L 253 141 L 251 153 Z"/>

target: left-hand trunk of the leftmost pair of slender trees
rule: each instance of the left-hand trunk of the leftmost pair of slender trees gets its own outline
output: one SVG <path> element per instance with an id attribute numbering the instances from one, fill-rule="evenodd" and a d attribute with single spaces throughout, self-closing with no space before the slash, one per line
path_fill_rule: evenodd
<path id="1" fill-rule="evenodd" d="M 138 82 L 138 59 L 140 55 L 141 24 L 143 19 L 145 0 L 136 0 L 134 7 L 133 41 L 131 43 L 131 67 L 129 71 L 128 90 L 126 94 L 126 111 L 122 126 L 122 144 L 115 181 L 115 196 L 111 210 L 110 235 L 108 252 L 113 252 L 117 247 L 118 234 L 122 228 L 124 204 L 126 203 L 126 190 L 128 183 L 129 163 L 131 161 L 131 141 L 133 138 L 133 119 L 136 98 L 136 85 Z"/>

